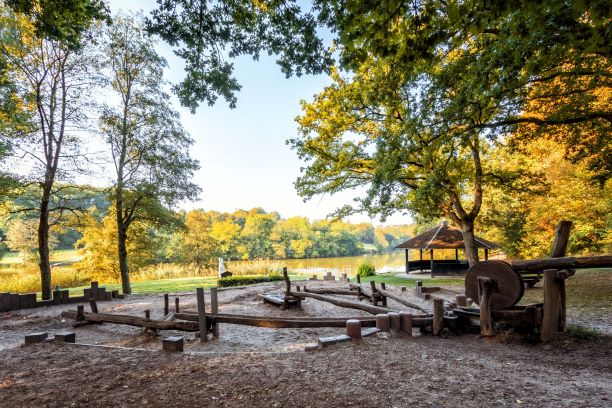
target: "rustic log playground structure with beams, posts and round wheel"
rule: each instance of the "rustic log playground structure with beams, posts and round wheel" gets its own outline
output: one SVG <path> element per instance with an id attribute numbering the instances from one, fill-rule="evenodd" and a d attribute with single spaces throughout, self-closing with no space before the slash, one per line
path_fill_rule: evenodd
<path id="1" fill-rule="evenodd" d="M 405 296 L 405 287 L 392 287 L 374 281 L 365 285 L 347 282 L 347 288 L 334 287 L 292 288 L 287 268 L 283 269 L 285 290 L 283 293 L 262 294 L 264 302 L 278 305 L 282 310 L 301 307 L 302 301 L 312 299 L 338 307 L 370 313 L 371 317 L 269 317 L 219 313 L 217 288 L 210 290 L 210 311 L 207 312 L 204 289 L 197 290 L 197 313 L 181 313 L 176 298 L 175 310 L 169 310 L 169 296 L 164 296 L 164 318 L 152 320 L 150 311 L 145 316 L 128 316 L 98 313 L 95 299 L 90 300 L 91 312 L 84 312 L 82 305 L 76 311 L 62 312 L 63 317 L 75 319 L 75 325 L 115 323 L 154 331 L 174 330 L 195 332 L 201 342 L 219 338 L 220 324 L 238 324 L 266 328 L 317 328 L 345 327 L 346 334 L 319 339 L 319 346 L 357 340 L 377 331 L 392 336 L 411 336 L 418 327 L 422 333 L 439 335 L 446 332 L 480 331 L 482 336 L 496 334 L 497 326 L 511 327 L 518 331 L 539 333 L 543 342 L 551 341 L 558 332 L 565 330 L 566 291 L 565 280 L 574 275 L 574 268 L 611 267 L 612 256 L 565 257 L 571 223 L 562 221 L 557 229 L 550 258 L 528 261 L 484 261 L 472 266 L 465 278 L 465 294 L 456 294 L 453 302 L 432 296 L 440 288 L 424 287 L 417 282 L 415 294 L 423 302 L 415 303 Z M 527 279 L 541 276 L 544 284 L 542 303 L 518 305 L 523 297 Z M 365 301 L 364 301 L 365 300 Z M 389 306 L 394 301 L 394 307 Z M 428 303 L 426 300 L 430 300 Z M 468 307 L 471 302 L 480 307 Z M 172 338 L 164 343 L 168 349 L 182 350 L 182 340 Z M 167 344 L 166 344 L 167 343 Z"/>

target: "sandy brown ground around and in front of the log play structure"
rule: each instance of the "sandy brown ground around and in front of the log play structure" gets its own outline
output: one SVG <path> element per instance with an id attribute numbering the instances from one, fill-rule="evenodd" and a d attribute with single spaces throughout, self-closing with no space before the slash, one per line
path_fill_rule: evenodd
<path id="1" fill-rule="evenodd" d="M 323 283 L 308 284 L 320 286 Z M 326 285 L 331 285 L 327 283 Z M 345 287 L 336 283 L 334 286 Z M 219 293 L 220 311 L 267 316 L 365 315 L 312 299 L 281 311 L 257 296 L 266 284 Z M 452 299 L 452 291 L 441 293 Z M 195 310 L 195 296 L 180 295 Z M 428 303 L 420 299 L 412 299 Z M 397 304 L 390 302 L 396 308 Z M 365 339 L 305 352 L 343 329 L 266 329 L 221 325 L 220 339 L 186 334 L 185 353 L 164 353 L 161 336 L 104 324 L 72 329 L 70 306 L 0 314 L 0 407 L 227 406 L 612 406 L 612 340 L 529 345 L 512 335 Z M 101 312 L 162 315 L 163 297 L 99 303 Z M 571 318 L 571 311 L 570 311 Z M 24 347 L 29 332 L 74 330 L 85 345 Z M 163 336 L 181 334 L 163 332 Z"/>

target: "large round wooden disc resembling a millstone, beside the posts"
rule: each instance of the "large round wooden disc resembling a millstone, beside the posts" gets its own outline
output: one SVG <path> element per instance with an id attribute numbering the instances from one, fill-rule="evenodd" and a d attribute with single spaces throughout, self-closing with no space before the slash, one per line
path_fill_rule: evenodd
<path id="1" fill-rule="evenodd" d="M 465 295 L 479 302 L 478 277 L 491 278 L 497 281 L 499 292 L 493 293 L 491 310 L 507 309 L 518 303 L 523 297 L 525 286 L 523 278 L 510 265 L 502 261 L 478 262 L 465 275 Z"/>

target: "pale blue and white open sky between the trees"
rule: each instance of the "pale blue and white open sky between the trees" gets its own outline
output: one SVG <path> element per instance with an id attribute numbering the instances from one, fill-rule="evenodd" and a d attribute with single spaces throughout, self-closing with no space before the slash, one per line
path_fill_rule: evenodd
<path id="1" fill-rule="evenodd" d="M 142 10 L 145 15 L 156 4 L 145 0 L 108 3 L 113 13 Z M 166 78 L 179 82 L 183 77 L 180 59 L 161 41 L 158 52 L 168 60 Z M 285 141 L 297 136 L 295 117 L 300 114 L 300 100 L 311 101 L 330 79 L 325 75 L 287 79 L 274 56 L 262 55 L 258 61 L 243 56 L 233 62 L 234 75 L 242 86 L 236 108 L 230 109 L 219 99 L 215 106 L 204 104 L 191 114 L 173 100 L 183 126 L 195 140 L 190 155 L 201 165 L 194 177 L 203 190 L 200 200 L 182 207 L 223 212 L 262 207 L 278 211 L 284 218 L 299 215 L 322 219 L 363 194 L 363 190 L 347 191 L 303 202 L 293 186 L 305 163 Z M 365 214 L 351 216 L 349 221 L 383 224 Z M 384 224 L 411 222 L 410 216 L 397 214 Z"/>

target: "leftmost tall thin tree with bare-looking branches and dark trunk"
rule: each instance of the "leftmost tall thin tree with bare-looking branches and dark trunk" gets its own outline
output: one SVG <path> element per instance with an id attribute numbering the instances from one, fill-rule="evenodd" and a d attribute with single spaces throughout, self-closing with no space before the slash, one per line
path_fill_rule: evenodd
<path id="1" fill-rule="evenodd" d="M 19 158 L 20 168 L 29 165 L 29 174 L 22 178 L 40 188 L 36 208 L 16 211 L 38 214 L 42 297 L 50 299 L 49 229 L 53 213 L 61 215 L 72 210 L 52 208 L 50 203 L 61 190 L 55 188 L 56 181 L 66 179 L 70 168 L 79 167 L 79 131 L 86 128 L 89 94 L 97 84 L 97 76 L 92 73 L 95 64 L 89 49 L 75 50 L 53 38 L 40 37 L 35 22 L 27 16 L 5 7 L 0 10 L 0 59 L 8 64 L 9 82 L 16 89 L 14 98 L 19 106 L 29 109 L 35 124 L 18 143 L 4 138 Z"/>

